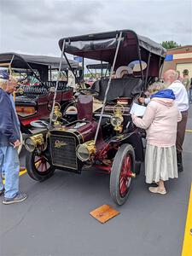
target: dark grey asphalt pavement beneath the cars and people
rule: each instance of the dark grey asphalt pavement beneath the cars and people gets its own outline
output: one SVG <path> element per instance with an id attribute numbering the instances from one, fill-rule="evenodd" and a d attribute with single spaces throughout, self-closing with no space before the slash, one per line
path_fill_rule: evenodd
<path id="1" fill-rule="evenodd" d="M 192 108 L 187 129 L 192 130 Z M 150 194 L 142 170 L 121 207 L 110 198 L 109 176 L 94 168 L 81 175 L 56 171 L 43 183 L 22 175 L 20 190 L 28 199 L 9 206 L 0 202 L 0 255 L 180 256 L 191 184 L 190 131 L 183 162 L 184 172 L 166 183 L 167 195 Z M 89 214 L 103 204 L 120 212 L 106 224 Z"/>

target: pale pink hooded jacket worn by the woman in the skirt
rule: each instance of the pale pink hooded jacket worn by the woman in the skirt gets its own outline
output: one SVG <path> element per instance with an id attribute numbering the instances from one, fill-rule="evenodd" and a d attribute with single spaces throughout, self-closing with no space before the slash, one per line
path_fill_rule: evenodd
<path id="1" fill-rule="evenodd" d="M 132 115 L 137 127 L 147 132 L 148 144 L 159 147 L 171 147 L 176 143 L 177 122 L 182 115 L 172 99 L 153 98 L 143 118 Z"/>

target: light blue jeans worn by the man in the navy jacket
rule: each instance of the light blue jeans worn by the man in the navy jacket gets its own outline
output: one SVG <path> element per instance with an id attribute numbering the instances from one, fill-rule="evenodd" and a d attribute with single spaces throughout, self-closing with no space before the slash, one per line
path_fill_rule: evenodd
<path id="1" fill-rule="evenodd" d="M 5 175 L 3 186 L 2 172 Z M 0 190 L 5 189 L 4 197 L 12 198 L 19 192 L 20 160 L 13 146 L 0 146 Z"/>

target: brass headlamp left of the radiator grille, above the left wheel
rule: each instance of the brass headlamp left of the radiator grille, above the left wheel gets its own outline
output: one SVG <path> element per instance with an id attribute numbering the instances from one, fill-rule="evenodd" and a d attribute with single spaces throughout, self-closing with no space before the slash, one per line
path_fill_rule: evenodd
<path id="1" fill-rule="evenodd" d="M 27 137 L 24 145 L 26 147 L 26 150 L 28 150 L 30 153 L 32 153 L 35 148 L 38 146 L 42 146 L 44 144 L 44 137 L 43 134 L 37 134 L 33 135 L 32 137 Z"/>

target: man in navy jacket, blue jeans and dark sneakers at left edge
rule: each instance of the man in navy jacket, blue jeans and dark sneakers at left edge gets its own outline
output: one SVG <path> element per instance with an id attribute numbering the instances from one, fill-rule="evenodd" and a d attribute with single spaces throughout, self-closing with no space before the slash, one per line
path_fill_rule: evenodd
<path id="1" fill-rule="evenodd" d="M 4 194 L 3 204 L 26 200 L 25 193 L 19 193 L 20 161 L 17 147 L 20 146 L 20 125 L 15 112 L 12 93 L 15 79 L 0 72 L 0 195 Z M 5 174 L 3 186 L 2 172 Z"/>

